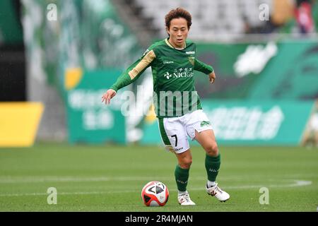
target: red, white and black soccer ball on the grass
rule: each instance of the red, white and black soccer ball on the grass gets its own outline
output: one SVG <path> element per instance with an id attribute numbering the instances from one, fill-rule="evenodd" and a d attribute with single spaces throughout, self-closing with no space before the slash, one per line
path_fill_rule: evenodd
<path id="1" fill-rule="evenodd" d="M 148 182 L 141 190 L 141 198 L 146 206 L 165 206 L 169 191 L 162 182 Z"/>

